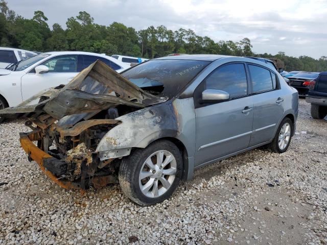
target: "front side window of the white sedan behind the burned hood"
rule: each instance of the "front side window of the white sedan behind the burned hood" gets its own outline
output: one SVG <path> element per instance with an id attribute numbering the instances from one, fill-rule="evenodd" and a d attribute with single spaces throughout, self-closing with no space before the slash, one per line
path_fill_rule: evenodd
<path id="1" fill-rule="evenodd" d="M 65 55 L 45 61 L 49 72 L 77 72 L 77 55 Z"/>

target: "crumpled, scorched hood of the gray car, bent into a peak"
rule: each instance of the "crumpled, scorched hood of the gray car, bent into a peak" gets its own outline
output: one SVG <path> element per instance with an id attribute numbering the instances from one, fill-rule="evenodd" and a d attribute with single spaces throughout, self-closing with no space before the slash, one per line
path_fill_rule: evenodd
<path id="1" fill-rule="evenodd" d="M 142 90 L 98 60 L 67 85 L 41 91 L 16 107 L 0 110 L 0 116 L 57 120 L 68 115 L 95 115 L 116 105 L 144 108 L 167 99 Z"/>

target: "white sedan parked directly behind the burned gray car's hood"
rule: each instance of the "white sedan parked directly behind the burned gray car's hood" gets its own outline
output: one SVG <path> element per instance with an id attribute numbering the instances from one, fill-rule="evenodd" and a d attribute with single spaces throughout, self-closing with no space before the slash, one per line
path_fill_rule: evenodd
<path id="1" fill-rule="evenodd" d="M 110 56 L 72 51 L 41 53 L 0 68 L 0 109 L 17 106 L 44 89 L 67 84 L 97 60 L 117 72 L 130 67 Z M 0 117 L 0 122 L 3 120 Z"/>

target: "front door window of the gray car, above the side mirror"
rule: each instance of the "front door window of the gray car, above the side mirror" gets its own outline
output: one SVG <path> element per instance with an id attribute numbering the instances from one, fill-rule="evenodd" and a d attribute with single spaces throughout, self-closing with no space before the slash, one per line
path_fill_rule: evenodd
<path id="1" fill-rule="evenodd" d="M 205 89 L 228 92 L 230 99 L 247 94 L 247 80 L 243 64 L 218 67 L 205 79 Z"/>

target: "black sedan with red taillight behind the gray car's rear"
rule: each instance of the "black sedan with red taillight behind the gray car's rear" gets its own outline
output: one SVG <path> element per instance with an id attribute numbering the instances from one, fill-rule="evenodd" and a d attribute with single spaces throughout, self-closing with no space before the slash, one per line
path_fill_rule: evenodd
<path id="1" fill-rule="evenodd" d="M 289 77 L 289 85 L 296 88 L 299 95 L 305 96 L 309 90 L 311 80 L 317 78 L 319 72 L 300 72 Z"/>

